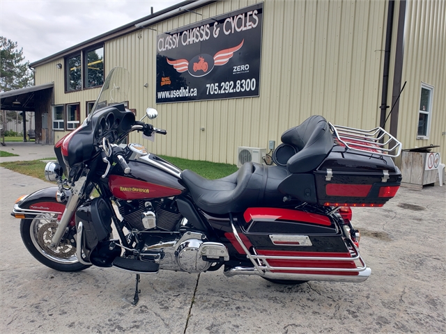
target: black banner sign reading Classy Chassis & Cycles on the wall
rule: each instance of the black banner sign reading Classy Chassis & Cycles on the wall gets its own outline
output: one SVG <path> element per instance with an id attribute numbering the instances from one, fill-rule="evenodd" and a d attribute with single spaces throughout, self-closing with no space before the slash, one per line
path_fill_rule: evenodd
<path id="1" fill-rule="evenodd" d="M 157 35 L 156 103 L 259 96 L 263 3 Z"/>

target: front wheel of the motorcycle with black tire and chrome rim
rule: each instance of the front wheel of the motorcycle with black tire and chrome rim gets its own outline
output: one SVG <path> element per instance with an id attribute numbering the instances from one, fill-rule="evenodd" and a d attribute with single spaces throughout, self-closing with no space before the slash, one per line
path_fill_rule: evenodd
<path id="1" fill-rule="evenodd" d="M 56 248 L 49 248 L 51 239 L 56 232 L 57 215 L 39 214 L 33 219 L 20 221 L 20 234 L 29 253 L 40 263 L 59 271 L 81 271 L 90 266 L 77 260 L 76 247 L 68 237 Z"/>

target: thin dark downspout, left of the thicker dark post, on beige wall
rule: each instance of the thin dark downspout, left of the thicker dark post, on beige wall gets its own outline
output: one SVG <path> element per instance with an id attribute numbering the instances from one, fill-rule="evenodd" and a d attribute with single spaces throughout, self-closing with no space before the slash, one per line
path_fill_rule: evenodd
<path id="1" fill-rule="evenodd" d="M 383 69 L 383 93 L 381 94 L 381 116 L 379 126 L 384 127 L 387 106 L 387 91 L 389 90 L 390 47 L 392 46 L 393 12 L 395 1 L 389 1 L 387 10 L 387 30 L 385 32 L 384 69 Z"/>

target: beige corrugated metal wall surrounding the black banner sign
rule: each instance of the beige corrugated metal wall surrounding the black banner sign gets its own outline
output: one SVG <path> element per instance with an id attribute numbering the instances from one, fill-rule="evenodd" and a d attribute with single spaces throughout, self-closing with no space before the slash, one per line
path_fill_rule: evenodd
<path id="1" fill-rule="evenodd" d="M 282 132 L 314 114 L 378 125 L 385 1 L 266 0 L 260 97 L 155 105 L 156 35 L 257 2 L 220 1 L 197 9 L 202 16 L 187 13 L 106 43 L 106 72 L 119 65 L 132 75 L 130 108 L 142 116 L 154 106 L 154 125 L 168 131 L 155 144 L 144 141 L 149 150 L 235 164 L 238 146 L 279 143 Z M 131 140 L 141 142 L 140 134 Z"/>

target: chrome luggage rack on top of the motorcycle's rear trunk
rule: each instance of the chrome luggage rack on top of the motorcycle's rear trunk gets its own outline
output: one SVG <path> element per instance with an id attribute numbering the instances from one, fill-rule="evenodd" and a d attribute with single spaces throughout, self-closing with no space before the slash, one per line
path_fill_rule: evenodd
<path id="1" fill-rule="evenodd" d="M 362 130 L 332 125 L 330 122 L 328 124 L 339 143 L 345 145 L 346 149 L 385 157 L 398 157 L 401 154 L 401 142 L 382 127 Z"/>

